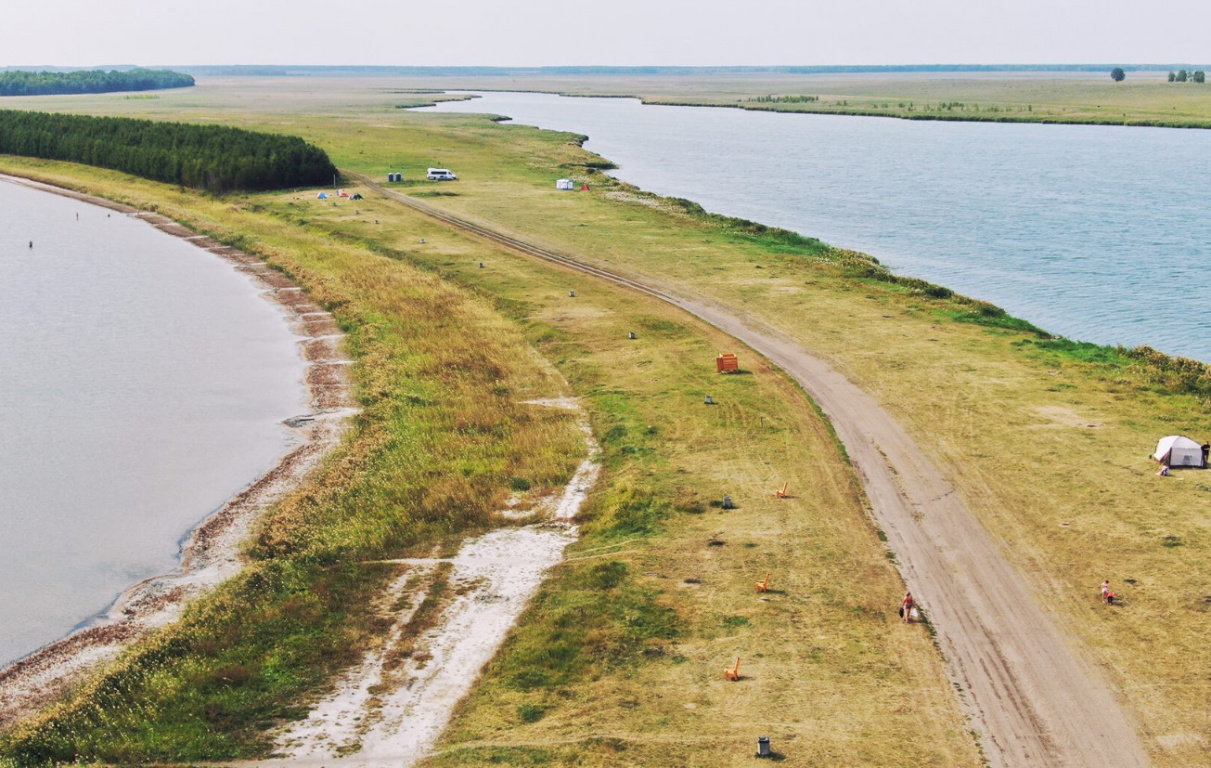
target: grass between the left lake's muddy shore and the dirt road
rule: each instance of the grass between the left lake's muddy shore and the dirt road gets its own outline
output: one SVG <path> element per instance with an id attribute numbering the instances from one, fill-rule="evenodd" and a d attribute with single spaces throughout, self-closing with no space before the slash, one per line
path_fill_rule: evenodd
<path id="1" fill-rule="evenodd" d="M 568 471 L 578 449 L 563 417 L 523 429 L 510 412 L 486 425 L 476 402 L 480 391 L 507 408 L 551 388 L 541 357 L 586 399 L 604 477 L 584 540 L 466 705 L 448 737 L 461 746 L 441 761 L 670 764 L 675 744 L 682 764 L 719 764 L 747 761 L 768 734 L 784 752 L 848 764 L 978 762 L 928 634 L 895 623 L 899 578 L 827 426 L 759 360 L 719 378 L 719 334 L 381 199 L 196 199 L 104 172 L 0 165 L 156 205 L 266 254 L 350 333 L 367 407 L 348 453 L 266 522 L 249 573 L 12 734 L 5 751 L 16 762 L 264 755 L 266 727 L 302 716 L 300 701 L 381 642 L 381 627 L 361 619 L 394 572 L 361 561 L 435 541 L 449 550 L 487 525 L 503 493 Z M 541 357 L 516 345 L 517 333 Z M 443 392 L 452 380 L 466 399 Z M 704 406 L 707 392 L 721 405 Z M 442 418 L 418 425 L 425 412 Z M 430 441 L 441 448 L 426 451 Z M 498 443 L 507 462 L 467 471 L 466 453 Z M 770 491 L 784 481 L 796 498 L 779 502 Z M 413 494 L 449 499 L 465 516 L 432 520 Z M 741 509 L 719 509 L 724 494 Z M 775 591 L 763 601 L 753 583 L 767 572 Z M 735 655 L 746 680 L 725 683 Z M 552 740 L 553 751 L 534 745 Z"/>

